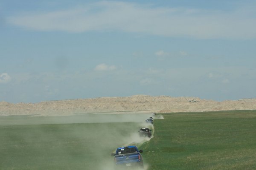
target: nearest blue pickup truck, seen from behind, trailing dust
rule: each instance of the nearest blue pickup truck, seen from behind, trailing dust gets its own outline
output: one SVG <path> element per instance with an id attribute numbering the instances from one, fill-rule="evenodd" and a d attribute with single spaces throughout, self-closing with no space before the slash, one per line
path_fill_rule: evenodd
<path id="1" fill-rule="evenodd" d="M 139 166 L 143 168 L 143 158 L 140 153 L 143 153 L 143 150 L 138 150 L 136 146 L 127 146 L 117 148 L 116 153 L 112 153 L 111 156 L 115 156 L 116 166 Z"/>

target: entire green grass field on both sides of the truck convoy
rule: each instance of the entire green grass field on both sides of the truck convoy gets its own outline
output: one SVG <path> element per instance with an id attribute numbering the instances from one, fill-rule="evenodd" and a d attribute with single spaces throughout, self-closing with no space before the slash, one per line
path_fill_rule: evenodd
<path id="1" fill-rule="evenodd" d="M 1 116 L 0 170 L 113 170 L 129 143 L 147 170 L 256 170 L 256 111 L 166 113 L 141 145 L 145 116 Z"/>

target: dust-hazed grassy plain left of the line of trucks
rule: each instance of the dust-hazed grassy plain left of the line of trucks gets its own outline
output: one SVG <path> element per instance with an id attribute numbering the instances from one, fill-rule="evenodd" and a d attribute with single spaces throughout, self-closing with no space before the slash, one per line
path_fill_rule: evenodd
<path id="1" fill-rule="evenodd" d="M 135 122 L 124 122 L 129 119 Z M 0 170 L 112 170 L 111 153 L 116 147 L 140 141 L 140 119 L 126 115 L 2 116 Z"/>

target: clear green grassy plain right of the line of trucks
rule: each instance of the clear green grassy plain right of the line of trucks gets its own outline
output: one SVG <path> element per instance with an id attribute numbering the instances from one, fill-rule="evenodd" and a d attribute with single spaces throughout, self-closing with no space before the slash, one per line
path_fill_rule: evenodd
<path id="1" fill-rule="evenodd" d="M 148 170 L 256 170 L 256 111 L 163 116 L 141 147 Z"/>

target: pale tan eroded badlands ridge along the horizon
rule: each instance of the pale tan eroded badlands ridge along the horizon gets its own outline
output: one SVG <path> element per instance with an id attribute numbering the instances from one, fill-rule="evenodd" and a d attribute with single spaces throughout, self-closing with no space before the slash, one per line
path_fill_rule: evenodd
<path id="1" fill-rule="evenodd" d="M 39 115 L 64 116 L 84 113 L 150 113 L 256 110 L 256 99 L 217 102 L 197 97 L 135 95 L 101 97 L 39 103 L 0 102 L 0 116 Z"/>

